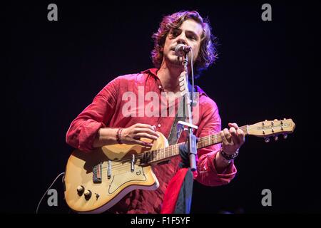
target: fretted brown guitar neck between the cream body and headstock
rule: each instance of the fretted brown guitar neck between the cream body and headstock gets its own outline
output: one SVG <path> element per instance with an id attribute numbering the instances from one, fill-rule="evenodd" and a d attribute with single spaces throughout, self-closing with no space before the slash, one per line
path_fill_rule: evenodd
<path id="1" fill-rule="evenodd" d="M 248 135 L 248 125 L 240 127 L 241 130 L 245 133 L 245 135 Z M 202 138 L 198 139 L 197 142 L 197 148 L 203 148 L 208 147 L 210 145 L 215 145 L 222 142 L 222 138 L 220 137 L 220 133 L 216 133 L 214 135 L 208 135 Z M 168 160 L 170 157 L 174 157 L 176 155 L 180 154 L 179 147 L 180 145 L 183 145 L 184 142 L 170 145 L 169 147 L 161 148 L 158 150 L 151 150 L 148 152 L 144 152 L 143 155 L 143 163 L 145 164 L 153 164 L 156 162 L 161 162 L 163 160 Z"/>

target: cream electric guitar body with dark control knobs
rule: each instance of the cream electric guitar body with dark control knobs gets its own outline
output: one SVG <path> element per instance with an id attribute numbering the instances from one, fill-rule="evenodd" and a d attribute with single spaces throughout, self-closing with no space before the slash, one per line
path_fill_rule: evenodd
<path id="1" fill-rule="evenodd" d="M 68 159 L 64 179 L 68 206 L 76 212 L 100 213 L 132 190 L 156 190 L 159 184 L 151 165 L 142 166 L 136 161 L 131 167 L 131 160 L 133 155 L 137 157 L 142 152 L 167 147 L 168 141 L 163 134 L 159 135 L 149 148 L 116 144 L 88 153 L 75 150 Z"/>

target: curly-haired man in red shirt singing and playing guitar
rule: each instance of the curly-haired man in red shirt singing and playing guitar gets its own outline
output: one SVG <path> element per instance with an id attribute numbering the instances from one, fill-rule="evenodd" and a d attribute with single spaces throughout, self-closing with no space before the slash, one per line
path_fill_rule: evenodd
<path id="1" fill-rule="evenodd" d="M 153 38 L 155 46 L 152 58 L 156 68 L 120 76 L 108 83 L 96 95 L 93 103 L 88 105 L 71 123 L 66 135 L 66 142 L 69 145 L 84 152 L 91 152 L 95 147 L 115 143 L 148 147 L 151 144 L 140 139 L 156 140 L 157 132 L 163 133 L 168 138 L 175 116 L 161 114 L 146 116 L 146 105 L 149 105 L 151 100 L 143 100 L 138 108 L 129 107 L 132 109 L 128 114 L 126 111 L 128 111 L 129 99 L 124 99 L 124 94 L 130 91 L 131 94 L 136 95 L 131 97 L 134 100 L 141 95 L 142 91 L 145 94 L 157 93 L 160 99 L 161 93 L 180 98 L 179 77 L 183 66 L 182 58 L 175 55 L 175 47 L 178 44 L 191 47 L 195 71 L 200 73 L 215 61 L 215 46 L 208 22 L 204 21 L 196 11 L 180 11 L 165 16 L 158 32 L 153 34 Z M 196 137 L 220 132 L 223 140 L 222 147 L 218 144 L 198 150 L 198 170 L 195 173 L 195 180 L 203 185 L 224 185 L 235 177 L 236 168 L 233 158 L 238 155 L 238 149 L 243 145 L 245 135 L 236 123 L 230 123 L 229 129 L 220 131 L 221 122 L 216 103 L 198 86 L 195 86 L 195 92 L 199 94 L 199 116 L 195 120 L 198 130 L 194 131 Z M 168 99 L 166 96 L 165 100 Z M 163 100 L 160 100 L 160 103 L 162 102 Z M 136 100 L 134 103 L 136 104 Z M 178 102 L 174 105 L 177 108 Z M 168 110 L 170 107 L 165 108 Z M 162 113 L 163 110 L 156 110 L 157 112 Z M 185 138 L 186 134 L 182 133 L 178 142 L 184 142 Z M 153 171 L 160 187 L 155 191 L 134 190 L 109 209 L 109 212 L 161 212 L 168 183 L 180 170 L 179 162 L 180 157 L 175 157 L 168 164 L 154 166 Z"/>

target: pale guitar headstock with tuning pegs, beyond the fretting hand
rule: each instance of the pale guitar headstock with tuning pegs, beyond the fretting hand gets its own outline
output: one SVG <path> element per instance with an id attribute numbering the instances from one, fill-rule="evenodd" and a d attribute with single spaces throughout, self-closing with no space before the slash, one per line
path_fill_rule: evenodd
<path id="1" fill-rule="evenodd" d="M 287 138 L 287 134 L 293 133 L 295 123 L 292 119 L 283 120 L 265 120 L 253 125 L 248 125 L 248 135 L 265 138 L 265 142 L 270 141 L 270 136 L 274 136 L 275 140 L 278 139 L 277 135 L 282 134 Z"/>

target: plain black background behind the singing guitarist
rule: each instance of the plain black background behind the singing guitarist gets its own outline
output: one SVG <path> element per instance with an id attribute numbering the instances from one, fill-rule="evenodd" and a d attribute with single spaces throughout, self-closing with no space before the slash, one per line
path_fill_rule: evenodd
<path id="1" fill-rule="evenodd" d="M 47 20 L 50 3 L 58 6 L 58 21 Z M 264 3 L 272 6 L 272 21 L 261 19 Z M 195 182 L 192 212 L 320 212 L 320 140 L 313 131 L 319 1 L 25 1 L 2 9 L 9 73 L 1 90 L 1 212 L 35 212 L 73 150 L 65 142 L 71 121 L 116 76 L 153 67 L 151 35 L 164 15 L 182 9 L 208 16 L 218 36 L 219 59 L 196 84 L 218 104 L 223 127 L 275 118 L 296 123 L 287 140 L 249 136 L 230 185 Z M 46 206 L 47 196 L 40 213 L 69 212 L 61 179 L 54 188 L 58 207 Z M 261 204 L 266 188 L 272 207 Z"/>

